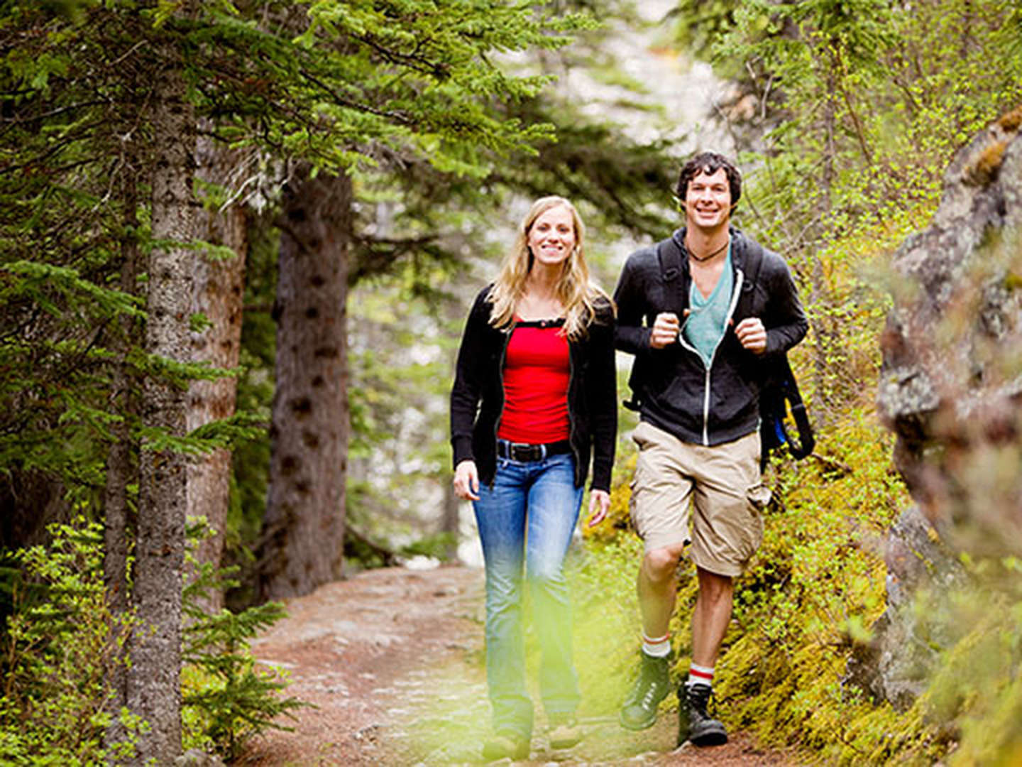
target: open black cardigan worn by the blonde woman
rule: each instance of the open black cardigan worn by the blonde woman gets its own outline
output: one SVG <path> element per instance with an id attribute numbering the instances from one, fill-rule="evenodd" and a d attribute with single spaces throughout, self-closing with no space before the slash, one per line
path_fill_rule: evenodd
<path id="1" fill-rule="evenodd" d="M 493 285 L 475 298 L 458 351 L 451 391 L 451 444 L 454 465 L 472 459 L 479 481 L 490 485 L 497 470 L 497 428 L 504 408 L 504 355 L 514 323 L 490 324 Z M 617 373 L 614 315 L 609 303 L 598 306 L 597 320 L 576 341 L 568 341 L 570 384 L 568 416 L 575 487 L 583 487 L 593 459 L 593 488 L 610 490 L 617 439 Z"/>

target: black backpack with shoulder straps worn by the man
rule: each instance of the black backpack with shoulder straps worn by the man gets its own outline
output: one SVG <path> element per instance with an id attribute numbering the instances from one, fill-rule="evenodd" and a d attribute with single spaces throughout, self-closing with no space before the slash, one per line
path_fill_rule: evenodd
<path id="1" fill-rule="evenodd" d="M 759 278 L 759 267 L 763 261 L 762 245 L 752 239 L 746 239 L 746 242 L 748 243 L 745 262 L 747 280 L 742 283 L 739 306 L 743 301 L 751 301 L 753 288 Z M 682 250 L 673 237 L 668 237 L 657 244 L 656 255 L 660 262 L 660 278 L 663 280 L 664 296 L 667 297 L 667 309 L 681 317 L 678 278 L 682 272 Z M 669 306 L 672 302 L 677 302 L 676 305 Z M 632 374 L 629 377 L 632 399 L 624 403 L 624 406 L 632 410 L 639 410 L 641 407 L 640 398 L 646 380 L 644 363 L 647 362 L 647 358 L 637 355 L 632 365 Z M 795 423 L 794 433 L 789 430 L 789 410 L 790 419 Z M 786 353 L 771 355 L 763 359 L 763 378 L 759 387 L 759 439 L 760 468 L 766 465 L 771 451 L 783 445 L 788 446 L 788 452 L 796 460 L 809 455 L 816 447 L 809 415 L 802 402 L 798 382 L 795 380 Z"/>

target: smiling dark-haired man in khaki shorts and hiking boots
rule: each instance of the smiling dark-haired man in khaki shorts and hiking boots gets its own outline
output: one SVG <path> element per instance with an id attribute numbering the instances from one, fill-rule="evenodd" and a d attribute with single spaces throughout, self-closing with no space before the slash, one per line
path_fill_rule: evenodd
<path id="1" fill-rule="evenodd" d="M 741 183 L 721 154 L 687 162 L 677 187 L 685 227 L 634 253 L 614 294 L 615 344 L 636 356 L 630 385 L 641 420 L 631 512 L 645 548 L 642 660 L 620 723 L 651 726 L 669 691 L 675 573 L 691 544 L 699 595 L 689 675 L 678 690 L 679 746 L 728 739 L 706 707 L 734 578 L 762 540 L 760 510 L 770 499 L 759 476 L 763 363 L 808 328 L 784 261 L 731 226 Z"/>

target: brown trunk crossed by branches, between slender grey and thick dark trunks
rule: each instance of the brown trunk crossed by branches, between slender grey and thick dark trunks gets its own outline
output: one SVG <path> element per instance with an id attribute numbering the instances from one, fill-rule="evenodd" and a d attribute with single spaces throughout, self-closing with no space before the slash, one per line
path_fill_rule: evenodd
<path id="1" fill-rule="evenodd" d="M 212 139 L 198 141 L 196 175 L 220 187 L 230 186 L 230 172 L 238 157 Z M 214 244 L 225 245 L 234 258 L 218 259 L 200 255 L 195 260 L 195 284 L 192 313 L 202 314 L 210 324 L 191 334 L 192 359 L 208 362 L 217 368 L 233 368 L 241 349 L 241 312 L 244 289 L 245 251 L 247 249 L 245 212 L 240 205 L 225 210 L 206 202 L 198 214 L 198 236 Z M 211 421 L 234 414 L 237 378 L 193 380 L 188 388 L 187 427 L 191 432 Z M 231 491 L 231 451 L 215 450 L 192 458 L 188 464 L 188 516 L 204 516 L 213 535 L 198 545 L 196 559 L 220 567 L 224 549 L 224 531 Z M 210 593 L 204 600 L 207 612 L 219 611 L 223 594 Z"/>

